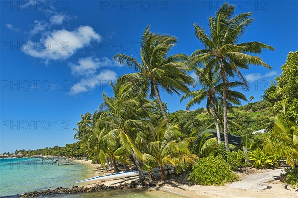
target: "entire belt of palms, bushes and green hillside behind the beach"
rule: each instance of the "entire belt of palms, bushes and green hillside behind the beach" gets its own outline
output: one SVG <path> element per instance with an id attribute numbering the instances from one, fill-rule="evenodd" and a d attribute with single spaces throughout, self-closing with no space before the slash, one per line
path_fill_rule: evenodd
<path id="1" fill-rule="evenodd" d="M 109 171 L 138 170 L 140 180 L 146 173 L 154 179 L 156 168 L 163 180 L 170 169 L 175 174 L 184 171 L 190 181 L 202 185 L 222 185 L 237 179 L 233 171 L 270 168 L 285 160 L 290 166 L 287 182 L 297 185 L 298 51 L 289 53 L 281 76 L 263 100 L 253 102 L 251 96 L 250 103 L 240 106 L 248 102 L 235 91 L 248 88 L 241 70 L 250 65 L 271 69 L 257 55 L 274 48 L 257 41 L 239 42 L 253 19 L 251 12 L 234 12 L 234 5 L 224 3 L 209 17 L 208 33 L 194 24 L 204 49 L 189 57 L 171 53 L 177 38 L 153 33 L 148 26 L 141 37 L 140 59 L 115 55 L 135 72 L 111 82 L 112 95 L 102 93 L 100 107 L 81 115 L 74 129 L 78 142 L 22 152 L 87 157 Z M 164 93 L 189 99 L 186 111 L 169 113 L 161 99 Z M 189 110 L 203 102 L 206 108 Z"/>

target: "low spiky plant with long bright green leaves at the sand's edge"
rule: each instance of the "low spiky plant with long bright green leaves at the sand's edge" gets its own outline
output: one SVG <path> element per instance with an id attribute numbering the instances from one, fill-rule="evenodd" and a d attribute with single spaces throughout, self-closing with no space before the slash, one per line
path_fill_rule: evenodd
<path id="1" fill-rule="evenodd" d="M 249 161 L 254 162 L 252 165 L 256 168 L 267 169 L 270 165 L 273 165 L 272 156 L 260 148 L 249 151 L 247 158 Z"/>

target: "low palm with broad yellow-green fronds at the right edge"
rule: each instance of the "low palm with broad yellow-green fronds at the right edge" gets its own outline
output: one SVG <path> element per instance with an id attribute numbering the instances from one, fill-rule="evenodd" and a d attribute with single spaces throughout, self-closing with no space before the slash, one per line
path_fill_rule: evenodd
<path id="1" fill-rule="evenodd" d="M 286 163 L 294 168 L 298 165 L 298 125 L 285 117 L 287 103 L 288 99 L 282 101 L 283 113 L 272 119 L 274 126 L 264 140 L 264 150 L 286 157 Z"/>

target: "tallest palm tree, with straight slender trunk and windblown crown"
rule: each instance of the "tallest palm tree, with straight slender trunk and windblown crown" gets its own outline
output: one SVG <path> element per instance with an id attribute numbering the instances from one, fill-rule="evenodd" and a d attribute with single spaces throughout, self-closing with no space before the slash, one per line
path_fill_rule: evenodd
<path id="1" fill-rule="evenodd" d="M 238 76 L 243 83 L 247 84 L 239 69 L 248 69 L 250 64 L 261 65 L 271 69 L 259 56 L 249 54 L 260 54 L 263 49 L 274 50 L 273 47 L 256 41 L 238 43 L 238 40 L 245 33 L 246 28 L 252 23 L 253 19 L 249 18 L 252 12 L 240 13 L 234 16 L 234 11 L 234 5 L 224 3 L 215 16 L 209 17 L 209 35 L 204 32 L 202 27 L 194 24 L 195 35 L 206 49 L 196 50 L 189 58 L 190 67 L 195 68 L 206 63 L 204 70 L 220 69 L 223 83 L 226 150 L 229 150 L 227 137 L 227 83 L 229 82 L 229 77 Z"/>

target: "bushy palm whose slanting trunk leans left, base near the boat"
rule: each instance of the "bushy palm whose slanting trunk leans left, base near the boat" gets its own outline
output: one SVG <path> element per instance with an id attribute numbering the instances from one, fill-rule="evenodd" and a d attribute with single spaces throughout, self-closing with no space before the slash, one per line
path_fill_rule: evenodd
<path id="1" fill-rule="evenodd" d="M 136 139 L 146 136 L 143 130 L 145 125 L 141 120 L 148 116 L 144 108 L 147 103 L 144 91 L 131 82 L 121 84 L 117 81 L 112 87 L 113 97 L 103 93 L 104 103 L 101 104 L 101 109 L 106 111 L 100 115 L 98 127 L 107 130 L 108 139 L 112 142 L 119 141 L 122 148 L 132 155 L 139 171 L 139 179 L 144 180 L 139 161 L 142 153 L 136 144 Z"/>

